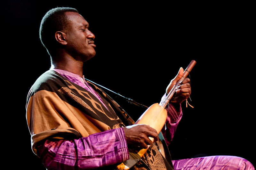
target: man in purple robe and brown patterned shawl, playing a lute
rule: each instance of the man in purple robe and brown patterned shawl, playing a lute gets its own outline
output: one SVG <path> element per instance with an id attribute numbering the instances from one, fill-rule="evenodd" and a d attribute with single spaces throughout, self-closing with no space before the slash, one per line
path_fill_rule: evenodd
<path id="1" fill-rule="evenodd" d="M 190 80 L 182 81 L 166 107 L 164 136 L 147 125 L 134 125 L 132 118 L 110 96 L 84 79 L 83 64 L 95 55 L 96 47 L 95 36 L 88 27 L 88 22 L 73 8 L 52 9 L 42 19 L 40 39 L 51 56 L 52 66 L 28 93 L 27 121 L 33 152 L 49 170 L 116 169 L 131 159 L 129 149 L 139 151 L 150 145 L 132 168 L 173 169 L 166 143 L 171 142 L 181 119 L 180 103 L 190 96 Z M 182 75 L 181 68 L 166 93 Z M 194 161 L 212 163 L 213 159 L 220 157 Z M 228 159 L 235 166 L 250 165 L 242 158 Z M 174 168 L 180 166 L 178 161 L 173 163 Z M 221 165 L 227 164 L 224 161 Z"/>

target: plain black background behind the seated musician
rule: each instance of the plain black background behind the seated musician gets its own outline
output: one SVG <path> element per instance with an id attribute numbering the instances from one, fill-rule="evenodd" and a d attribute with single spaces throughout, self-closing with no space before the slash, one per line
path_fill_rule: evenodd
<path id="1" fill-rule="evenodd" d="M 2 83 L 8 106 L 2 141 L 14 169 L 44 169 L 30 148 L 25 104 L 31 85 L 50 68 L 38 30 L 57 6 L 76 8 L 96 36 L 97 54 L 85 63 L 85 77 L 144 105 L 159 102 L 179 68 L 196 60 L 190 74 L 194 108 L 182 103 L 172 159 L 234 155 L 255 165 L 251 4 L 17 0 L 2 1 L 1 10 L 8 80 Z"/>

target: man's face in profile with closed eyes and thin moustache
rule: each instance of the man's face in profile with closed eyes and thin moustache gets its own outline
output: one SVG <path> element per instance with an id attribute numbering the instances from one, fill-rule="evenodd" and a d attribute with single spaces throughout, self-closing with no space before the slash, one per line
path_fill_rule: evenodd
<path id="1" fill-rule="evenodd" d="M 95 55 L 94 34 L 89 31 L 88 22 L 76 12 L 66 12 L 69 20 L 67 28 L 63 31 L 67 34 L 66 51 L 74 59 L 85 62 Z"/>

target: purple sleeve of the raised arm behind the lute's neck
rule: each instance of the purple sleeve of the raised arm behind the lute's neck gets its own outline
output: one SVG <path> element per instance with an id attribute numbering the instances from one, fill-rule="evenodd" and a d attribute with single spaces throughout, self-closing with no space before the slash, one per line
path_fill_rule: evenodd
<path id="1" fill-rule="evenodd" d="M 160 104 L 164 101 L 165 98 L 166 98 L 166 94 L 162 97 Z M 169 103 L 166 106 L 166 110 L 167 110 L 167 118 L 166 118 L 165 126 L 162 129 L 162 133 L 163 133 L 166 144 L 169 145 L 172 142 L 177 126 L 181 120 L 182 109 L 180 105 L 180 107 L 178 107 L 178 109 L 176 110 L 176 108 L 171 103 Z"/>

